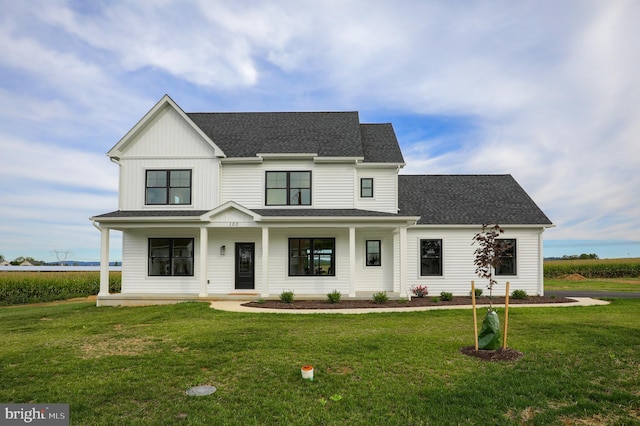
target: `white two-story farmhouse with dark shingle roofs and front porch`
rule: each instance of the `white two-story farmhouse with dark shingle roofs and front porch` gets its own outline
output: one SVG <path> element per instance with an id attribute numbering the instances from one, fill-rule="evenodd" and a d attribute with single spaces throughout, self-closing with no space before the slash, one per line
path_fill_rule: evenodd
<path id="1" fill-rule="evenodd" d="M 510 175 L 400 175 L 391 124 L 357 112 L 185 113 L 164 96 L 111 150 L 117 211 L 101 230 L 98 305 L 212 298 L 466 295 L 472 237 L 497 223 L 513 243 L 502 284 L 543 294 L 553 226 Z M 108 286 L 122 231 L 122 292 Z M 498 285 L 495 294 L 504 294 Z"/>

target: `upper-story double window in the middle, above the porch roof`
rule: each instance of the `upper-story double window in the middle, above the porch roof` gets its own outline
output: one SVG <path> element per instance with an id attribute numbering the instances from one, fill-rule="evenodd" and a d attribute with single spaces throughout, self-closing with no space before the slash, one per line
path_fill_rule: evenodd
<path id="1" fill-rule="evenodd" d="M 267 206 L 310 206 L 311 172 L 267 172 Z"/>

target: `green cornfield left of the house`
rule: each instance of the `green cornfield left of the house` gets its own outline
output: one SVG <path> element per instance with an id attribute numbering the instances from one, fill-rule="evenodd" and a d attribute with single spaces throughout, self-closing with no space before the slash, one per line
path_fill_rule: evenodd
<path id="1" fill-rule="evenodd" d="M 109 291 L 120 292 L 122 274 L 110 272 Z M 98 294 L 100 272 L 0 272 L 0 306 L 87 297 Z"/>

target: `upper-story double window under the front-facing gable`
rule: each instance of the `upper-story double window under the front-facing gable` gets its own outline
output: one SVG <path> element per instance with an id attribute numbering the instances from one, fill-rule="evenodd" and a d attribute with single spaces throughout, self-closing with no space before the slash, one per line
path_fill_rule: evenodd
<path id="1" fill-rule="evenodd" d="M 147 170 L 147 205 L 191 204 L 191 170 Z"/>

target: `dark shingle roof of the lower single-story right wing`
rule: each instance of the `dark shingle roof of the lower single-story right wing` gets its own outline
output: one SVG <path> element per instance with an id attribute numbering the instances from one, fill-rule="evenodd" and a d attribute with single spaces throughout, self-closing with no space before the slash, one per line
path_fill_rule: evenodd
<path id="1" fill-rule="evenodd" d="M 419 224 L 552 224 L 511 175 L 399 175 L 398 206 Z"/>

